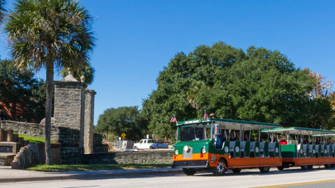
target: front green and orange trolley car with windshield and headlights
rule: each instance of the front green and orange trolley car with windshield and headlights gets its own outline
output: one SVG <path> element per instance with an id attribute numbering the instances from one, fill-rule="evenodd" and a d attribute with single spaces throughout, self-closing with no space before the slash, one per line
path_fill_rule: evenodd
<path id="1" fill-rule="evenodd" d="M 267 173 L 270 166 L 282 166 L 280 146 L 262 141 L 260 134 L 276 127 L 280 125 L 219 118 L 179 122 L 172 168 L 183 169 L 186 175 L 223 175 L 228 169 L 239 173 L 250 168 Z"/>

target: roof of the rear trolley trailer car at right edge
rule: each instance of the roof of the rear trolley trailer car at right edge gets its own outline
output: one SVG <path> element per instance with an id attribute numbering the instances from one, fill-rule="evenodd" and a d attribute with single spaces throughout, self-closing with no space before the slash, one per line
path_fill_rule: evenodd
<path id="1" fill-rule="evenodd" d="M 262 130 L 262 132 L 290 133 L 290 134 L 302 134 L 302 135 L 320 134 L 320 136 L 325 134 L 335 134 L 335 132 L 331 130 L 317 130 L 306 127 L 277 127 L 274 129 L 265 129 Z"/>

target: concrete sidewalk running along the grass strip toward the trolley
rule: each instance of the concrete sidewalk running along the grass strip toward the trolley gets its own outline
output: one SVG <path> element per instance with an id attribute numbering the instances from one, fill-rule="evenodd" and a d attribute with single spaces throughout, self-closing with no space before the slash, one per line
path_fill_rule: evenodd
<path id="1" fill-rule="evenodd" d="M 27 182 L 45 180 L 75 180 L 86 178 L 118 178 L 128 175 L 160 175 L 181 173 L 181 169 L 117 169 L 104 171 L 67 171 L 67 172 L 37 172 L 10 169 L 10 166 L 0 166 L 0 184 L 2 182 Z"/>

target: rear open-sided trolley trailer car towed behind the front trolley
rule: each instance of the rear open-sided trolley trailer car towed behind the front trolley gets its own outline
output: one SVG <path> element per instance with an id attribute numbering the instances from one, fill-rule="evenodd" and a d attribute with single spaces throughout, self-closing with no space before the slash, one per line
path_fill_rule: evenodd
<path id="1" fill-rule="evenodd" d="M 292 166 L 313 169 L 313 165 L 324 165 L 327 169 L 335 164 L 334 131 L 306 127 L 277 127 L 262 132 L 279 134 L 288 141 L 288 144 L 281 145 L 283 160 L 282 165 L 278 166 L 279 170 Z"/>

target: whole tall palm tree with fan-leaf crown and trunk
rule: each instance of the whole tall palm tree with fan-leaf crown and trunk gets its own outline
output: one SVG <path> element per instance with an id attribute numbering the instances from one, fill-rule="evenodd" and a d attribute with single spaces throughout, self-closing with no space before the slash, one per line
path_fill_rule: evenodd
<path id="1" fill-rule="evenodd" d="M 54 68 L 87 65 L 94 47 L 91 17 L 75 0 L 17 0 L 4 31 L 19 68 L 46 68 L 45 164 L 51 163 Z"/>

